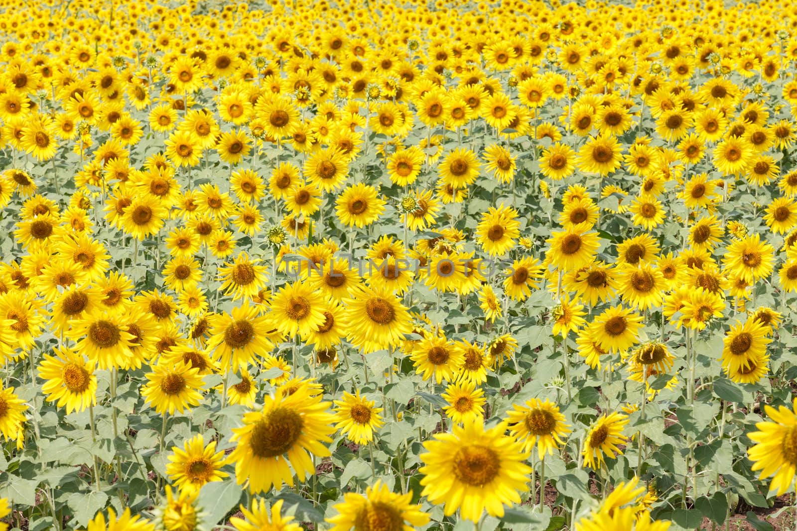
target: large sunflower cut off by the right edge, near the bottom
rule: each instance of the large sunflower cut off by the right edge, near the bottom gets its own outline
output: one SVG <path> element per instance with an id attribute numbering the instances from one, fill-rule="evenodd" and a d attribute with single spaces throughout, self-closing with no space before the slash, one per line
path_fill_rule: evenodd
<path id="1" fill-rule="evenodd" d="M 791 404 L 775 409 L 764 405 L 764 412 L 771 421 L 756 423 L 758 431 L 747 436 L 756 443 L 748 449 L 748 457 L 753 462 L 751 470 L 760 470 L 759 478 L 772 476 L 769 490 L 781 496 L 787 492 L 795 477 L 797 467 L 797 398 Z"/>

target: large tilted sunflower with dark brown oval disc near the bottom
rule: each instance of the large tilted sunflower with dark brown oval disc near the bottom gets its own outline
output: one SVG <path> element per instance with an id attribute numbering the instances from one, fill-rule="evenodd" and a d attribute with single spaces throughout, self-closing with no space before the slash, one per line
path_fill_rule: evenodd
<path id="1" fill-rule="evenodd" d="M 233 428 L 231 441 L 238 443 L 229 456 L 235 463 L 238 484 L 249 481 L 253 494 L 279 489 L 283 483 L 293 486 L 294 473 L 304 481 L 315 474 L 311 455 L 328 457 L 336 431 L 335 416 L 320 394 L 304 388 L 289 395 L 267 395 L 260 411 L 245 413 L 241 428 Z M 293 468 L 293 472 L 289 469 Z"/>

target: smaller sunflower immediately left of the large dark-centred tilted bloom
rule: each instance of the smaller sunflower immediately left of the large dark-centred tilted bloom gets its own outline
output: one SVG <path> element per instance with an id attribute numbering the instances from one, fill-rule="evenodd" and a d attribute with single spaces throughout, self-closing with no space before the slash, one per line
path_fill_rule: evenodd
<path id="1" fill-rule="evenodd" d="M 175 446 L 171 451 L 166 473 L 181 491 L 198 493 L 202 485 L 222 481 L 230 475 L 221 470 L 225 463 L 224 451 L 216 451 L 214 440 L 206 445 L 202 434 L 186 439 L 182 448 Z"/>

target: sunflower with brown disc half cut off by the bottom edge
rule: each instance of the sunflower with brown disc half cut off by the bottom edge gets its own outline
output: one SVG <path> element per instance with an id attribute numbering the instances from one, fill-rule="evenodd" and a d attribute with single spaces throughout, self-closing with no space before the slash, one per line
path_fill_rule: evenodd
<path id="1" fill-rule="evenodd" d="M 350 529 L 390 529 L 390 531 L 411 531 L 426 525 L 430 518 L 419 505 L 412 503 L 412 494 L 395 494 L 381 479 L 373 486 L 367 487 L 365 496 L 356 493 L 344 494 L 344 502 L 334 506 L 338 511 L 326 521 L 333 524 L 331 531 L 349 531 Z M 264 528 L 257 528 L 264 529 Z M 241 529 L 241 531 L 257 531 L 257 529 Z M 276 529 L 273 525 L 269 529 Z M 280 531 L 283 531 L 280 529 Z M 299 531 L 285 529 L 284 531 Z"/>

